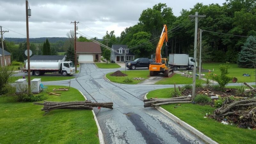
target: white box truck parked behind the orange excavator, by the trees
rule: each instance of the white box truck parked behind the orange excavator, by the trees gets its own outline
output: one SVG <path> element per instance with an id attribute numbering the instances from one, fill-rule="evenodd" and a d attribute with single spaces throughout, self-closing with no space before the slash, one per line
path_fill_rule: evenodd
<path id="1" fill-rule="evenodd" d="M 169 54 L 169 65 L 173 70 L 178 68 L 194 69 L 195 59 L 188 56 L 188 54 Z M 196 64 L 197 66 L 197 64 Z"/>

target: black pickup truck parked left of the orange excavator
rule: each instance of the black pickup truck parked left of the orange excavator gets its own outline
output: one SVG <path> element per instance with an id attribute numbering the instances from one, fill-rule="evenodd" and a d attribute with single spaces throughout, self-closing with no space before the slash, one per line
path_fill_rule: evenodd
<path id="1" fill-rule="evenodd" d="M 129 69 L 135 68 L 149 68 L 149 64 L 153 62 L 152 59 L 138 58 L 133 61 L 126 62 L 126 67 Z"/>

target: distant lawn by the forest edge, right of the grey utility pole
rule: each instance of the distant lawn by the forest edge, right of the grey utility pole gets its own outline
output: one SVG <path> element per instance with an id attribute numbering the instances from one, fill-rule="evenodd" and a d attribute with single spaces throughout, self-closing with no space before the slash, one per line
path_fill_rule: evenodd
<path id="1" fill-rule="evenodd" d="M 203 68 L 204 69 L 210 69 L 211 71 L 214 69 L 214 74 L 220 75 L 220 69 L 219 69 L 219 65 L 223 64 L 223 63 L 204 63 L 203 64 Z M 229 72 L 229 76 L 232 77 L 236 77 L 237 78 L 237 82 L 239 83 L 244 83 L 244 82 L 255 82 L 255 74 L 254 74 L 254 68 L 238 68 L 237 64 L 229 64 L 230 65 L 230 69 L 228 69 Z M 251 74 L 252 72 L 252 74 Z M 244 73 L 247 73 L 250 76 L 243 76 Z M 203 73 L 205 75 L 208 75 L 208 72 Z M 229 81 L 229 83 L 233 83 L 232 81 Z"/>

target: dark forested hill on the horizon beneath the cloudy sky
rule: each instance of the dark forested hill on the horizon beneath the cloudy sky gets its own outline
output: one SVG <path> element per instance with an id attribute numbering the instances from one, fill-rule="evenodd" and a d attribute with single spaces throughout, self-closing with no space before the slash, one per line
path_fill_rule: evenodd
<path id="1" fill-rule="evenodd" d="M 67 37 L 39 37 L 39 38 L 29 38 L 30 43 L 44 43 L 46 38 L 50 43 L 56 43 L 57 41 L 66 41 Z M 14 43 L 25 43 L 27 42 L 27 38 L 11 38 L 5 37 L 6 41 L 14 42 Z"/>

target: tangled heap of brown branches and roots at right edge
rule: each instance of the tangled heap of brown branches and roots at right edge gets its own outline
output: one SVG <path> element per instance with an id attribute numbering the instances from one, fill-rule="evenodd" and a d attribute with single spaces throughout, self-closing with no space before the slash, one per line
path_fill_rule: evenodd
<path id="1" fill-rule="evenodd" d="M 241 128 L 255 129 L 256 98 L 238 101 L 226 98 L 222 106 L 214 110 L 213 115 L 209 115 L 208 117 L 229 124 L 236 124 Z"/>

